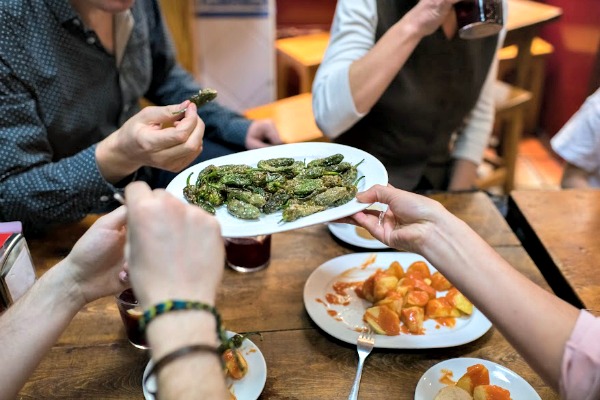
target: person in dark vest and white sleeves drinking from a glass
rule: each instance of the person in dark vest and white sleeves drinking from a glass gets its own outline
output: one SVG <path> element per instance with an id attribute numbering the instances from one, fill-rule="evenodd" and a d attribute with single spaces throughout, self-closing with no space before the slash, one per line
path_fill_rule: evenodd
<path id="1" fill-rule="evenodd" d="M 504 30 L 459 38 L 457 1 L 338 1 L 313 83 L 323 133 L 405 190 L 472 189 L 492 132 Z"/>

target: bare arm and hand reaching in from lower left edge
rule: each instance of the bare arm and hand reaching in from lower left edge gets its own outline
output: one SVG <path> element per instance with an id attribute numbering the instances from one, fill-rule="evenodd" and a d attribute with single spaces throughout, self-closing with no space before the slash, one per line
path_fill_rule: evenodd
<path id="1" fill-rule="evenodd" d="M 98 220 L 60 263 L 0 316 L 0 398 L 16 398 L 48 350 L 86 303 L 125 289 L 119 279 L 124 209 Z M 32 329 L 32 327 L 35 327 Z"/>

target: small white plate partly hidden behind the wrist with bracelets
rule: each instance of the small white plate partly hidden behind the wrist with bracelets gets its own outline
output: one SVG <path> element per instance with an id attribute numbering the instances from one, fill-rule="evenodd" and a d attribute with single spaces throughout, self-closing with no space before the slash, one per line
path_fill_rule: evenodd
<path id="1" fill-rule="evenodd" d="M 234 332 L 227 331 L 227 337 L 234 336 Z M 240 380 L 227 378 L 227 387 L 233 393 L 237 400 L 256 400 L 262 393 L 265 383 L 267 382 L 267 364 L 262 353 L 250 339 L 244 339 L 240 351 L 248 362 L 248 373 Z M 146 375 L 150 372 L 152 360 L 144 369 L 142 382 L 146 382 Z M 146 400 L 156 400 L 150 393 L 156 392 L 156 378 L 150 377 L 146 385 L 142 385 L 144 390 L 144 398 Z"/>

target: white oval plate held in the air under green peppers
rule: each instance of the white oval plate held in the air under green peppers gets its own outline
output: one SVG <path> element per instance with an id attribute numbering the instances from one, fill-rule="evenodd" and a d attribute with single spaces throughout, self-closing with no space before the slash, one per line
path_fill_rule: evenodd
<path id="1" fill-rule="evenodd" d="M 249 150 L 241 153 L 230 154 L 223 157 L 213 158 L 212 160 L 204 161 L 193 165 L 181 173 L 179 173 L 167 186 L 167 191 L 181 201 L 187 202 L 183 197 L 183 188 L 190 173 L 194 173 L 194 177 L 207 166 L 213 164 L 216 166 L 226 164 L 245 164 L 256 166 L 260 160 L 278 157 L 291 157 L 295 160 L 303 160 L 309 162 L 317 158 L 328 157 L 333 154 L 343 154 L 344 161 L 351 164 L 362 163 L 358 166 L 358 176 L 364 176 L 358 182 L 358 190 L 364 191 L 373 185 L 387 185 L 388 174 L 383 164 L 362 150 L 354 147 L 345 146 L 336 143 L 294 143 L 284 144 L 279 146 L 265 147 L 257 150 Z M 352 199 L 346 204 L 339 207 L 327 209 L 318 212 L 308 217 L 299 218 L 292 222 L 280 222 L 281 211 L 263 215 L 258 220 L 243 220 L 231 216 L 226 207 L 222 206 L 217 209 L 216 217 L 221 224 L 221 235 L 223 237 L 244 237 L 268 235 L 277 232 L 289 231 L 292 229 L 303 228 L 310 225 L 329 222 L 338 218 L 347 217 L 370 206 L 369 203 L 359 203 L 356 199 Z"/>

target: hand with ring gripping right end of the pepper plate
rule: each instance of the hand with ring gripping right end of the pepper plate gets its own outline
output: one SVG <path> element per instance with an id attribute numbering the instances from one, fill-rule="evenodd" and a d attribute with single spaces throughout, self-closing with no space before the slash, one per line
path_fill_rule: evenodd
<path id="1" fill-rule="evenodd" d="M 362 203 L 388 205 L 380 223 L 380 211 L 365 210 L 340 220 L 366 228 L 390 247 L 422 254 L 427 238 L 443 220 L 445 208 L 435 200 L 392 186 L 375 185 L 356 195 Z"/>

